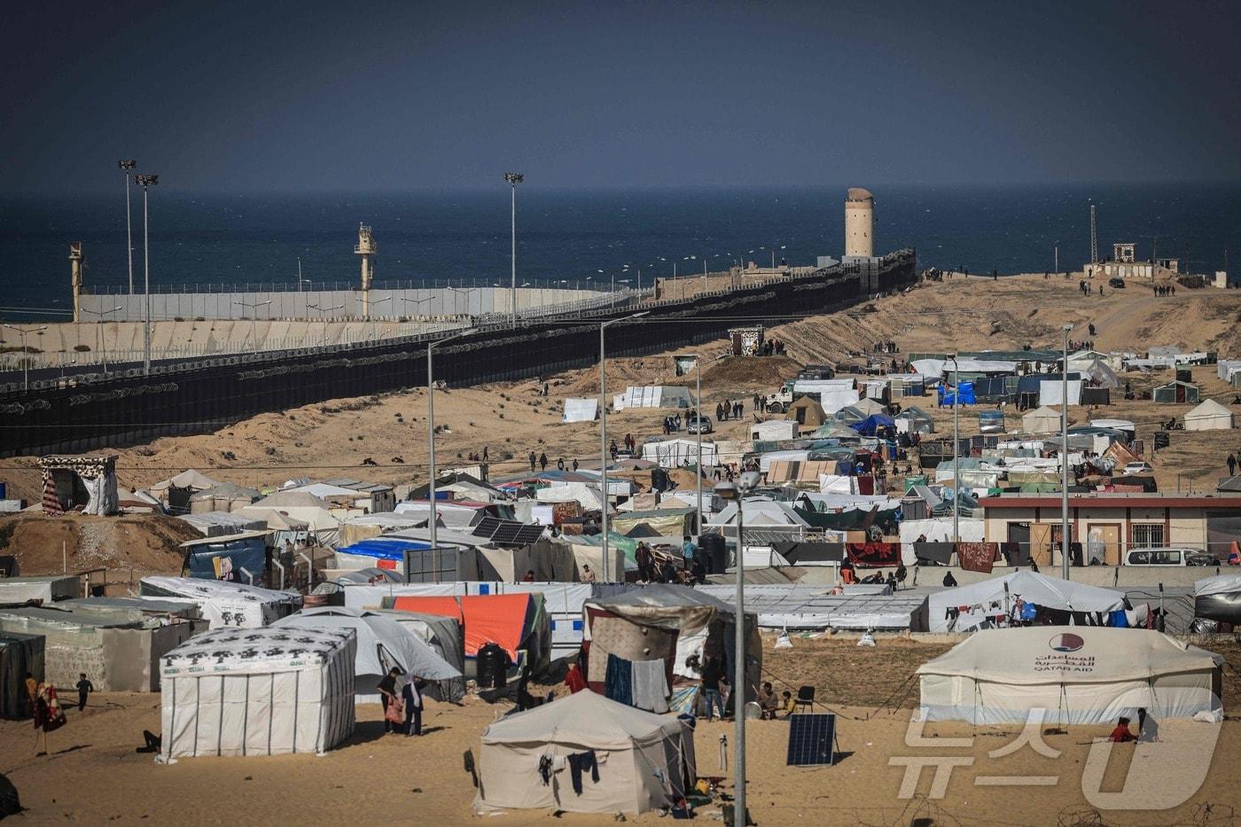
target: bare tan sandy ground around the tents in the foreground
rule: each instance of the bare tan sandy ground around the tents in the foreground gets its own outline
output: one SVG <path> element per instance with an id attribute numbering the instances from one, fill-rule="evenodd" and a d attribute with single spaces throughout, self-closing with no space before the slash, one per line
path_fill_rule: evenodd
<path id="1" fill-rule="evenodd" d="M 881 638 L 876 648 L 865 649 L 854 641 L 794 639 L 794 649 L 781 652 L 772 652 L 769 644 L 768 639 L 766 666 L 777 689 L 782 676 L 793 682 L 813 678 L 819 698 L 839 715 L 841 754 L 834 766 L 788 767 L 788 724 L 751 721 L 748 796 L 751 813 L 759 825 L 903 827 L 915 817 L 930 817 L 941 825 L 1224 825 L 1234 823 L 1241 813 L 1241 791 L 1232 777 L 1232 767 L 1241 759 L 1241 723 L 1236 720 L 1224 723 L 1201 785 L 1195 777 L 1174 785 L 1188 798 L 1184 803 L 1157 811 L 1101 808 L 1083 792 L 1082 776 L 1091 739 L 1104 736 L 1107 728 L 1073 726 L 1065 734 L 1042 734 L 1039 748 L 1059 752 L 1056 757 L 1039 754 L 1030 744 L 992 756 L 1011 748 L 1021 729 L 928 724 L 911 731 L 916 687 L 895 704 L 884 705 L 917 664 L 943 651 L 942 643 Z M 1220 642 L 1212 648 L 1229 658 L 1227 707 L 1237 699 L 1235 666 L 1241 663 L 1241 647 Z M 504 704 L 488 705 L 477 699 L 462 707 L 428 702 L 423 718 L 428 734 L 405 739 L 385 736 L 379 707 L 364 705 L 359 708 L 354 738 L 324 757 L 200 757 L 160 766 L 150 756 L 134 752 L 143 729 L 159 730 L 159 697 L 101 694 L 92 697 L 84 713 L 69 710 L 68 725 L 51 735 L 48 756 L 34 755 L 29 723 L 0 721 L 0 772 L 17 786 L 29 808 L 19 823 L 271 823 L 288 818 L 310 823 L 464 823 L 475 816 L 470 807 L 474 791 L 463 771 L 462 754 L 473 749 L 477 755 L 482 730 L 508 710 Z M 1196 744 L 1206 726 L 1163 721 L 1167 746 L 1155 746 L 1174 750 Z M 731 744 L 733 733 L 732 724 L 699 725 L 695 746 L 700 775 L 728 776 L 720 769 L 719 739 L 726 735 Z M 947 739 L 965 740 L 948 745 Z M 1142 771 L 1163 780 L 1175 771 L 1164 762 L 1170 754 L 1134 754 L 1132 745 L 1117 746 L 1116 752 L 1106 764 L 1104 792 L 1119 791 L 1129 765 L 1136 765 L 1122 805 L 1138 801 L 1138 782 L 1152 777 Z M 907 770 L 903 764 L 894 765 L 894 757 L 942 756 L 957 761 L 943 789 L 936 789 L 934 770 L 928 767 L 902 792 Z M 978 782 L 979 777 L 1035 776 L 1054 777 L 1055 782 Z M 725 785 L 731 791 L 730 785 L 731 776 Z M 714 810 L 701 815 L 710 817 Z M 549 817 L 547 812 L 530 811 L 495 818 L 498 823 L 525 825 L 547 823 Z M 635 821 L 649 823 L 656 818 L 647 813 Z M 567 813 L 562 820 L 602 825 L 612 817 Z"/>

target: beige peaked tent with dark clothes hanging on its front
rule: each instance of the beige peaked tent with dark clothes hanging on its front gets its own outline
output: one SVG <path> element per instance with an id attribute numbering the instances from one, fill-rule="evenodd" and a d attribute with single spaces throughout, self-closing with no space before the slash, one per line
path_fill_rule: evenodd
<path id="1" fill-rule="evenodd" d="M 573 791 L 565 759 L 588 750 L 599 780 L 581 775 Z M 549 784 L 539 759 L 552 757 Z M 663 807 L 684 795 L 696 777 L 694 730 L 678 718 L 655 715 L 588 689 L 516 713 L 483 730 L 479 750 L 479 812 L 563 810 L 629 815 Z"/>

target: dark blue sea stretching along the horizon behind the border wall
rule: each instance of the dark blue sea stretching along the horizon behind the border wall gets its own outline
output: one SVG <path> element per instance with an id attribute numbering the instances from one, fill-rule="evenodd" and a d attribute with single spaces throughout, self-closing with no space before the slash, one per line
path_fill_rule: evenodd
<path id="1" fill-rule="evenodd" d="M 295 288 L 298 258 L 314 287 L 357 283 L 357 224 L 375 228 L 376 278 L 509 281 L 509 189 L 408 195 L 195 195 L 151 190 L 153 289 L 179 286 Z M 1101 255 L 1132 241 L 1138 256 L 1224 269 L 1241 255 L 1241 186 L 906 186 L 875 191 L 876 250 L 916 247 L 923 267 L 970 272 L 1078 268 L 1090 258 L 1090 204 Z M 519 283 L 711 271 L 737 261 L 813 263 L 839 256 L 845 186 L 789 190 L 517 190 Z M 141 192 L 133 190 L 135 286 L 143 268 Z M 0 197 L 0 318 L 63 318 L 68 245 L 82 241 L 96 292 L 128 289 L 125 202 L 114 196 Z M 628 266 L 628 269 L 625 269 Z M 1236 281 L 1236 277 L 1234 277 Z"/>

